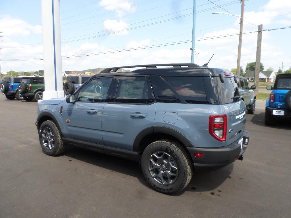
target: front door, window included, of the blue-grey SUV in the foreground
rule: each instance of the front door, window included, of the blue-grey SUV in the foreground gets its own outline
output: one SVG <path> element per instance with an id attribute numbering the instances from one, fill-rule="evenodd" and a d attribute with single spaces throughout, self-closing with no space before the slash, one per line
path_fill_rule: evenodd
<path id="1" fill-rule="evenodd" d="M 63 105 L 65 137 L 103 144 L 102 114 L 111 82 L 112 77 L 93 79 L 76 93 L 76 102 Z"/>

